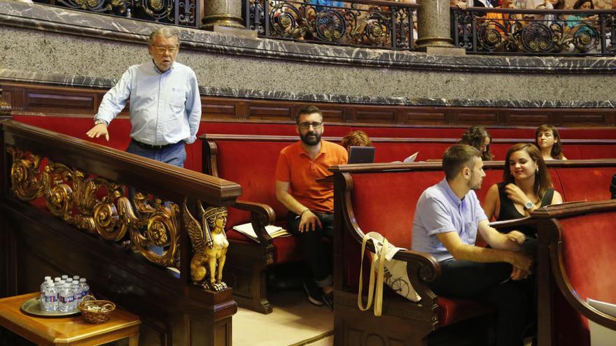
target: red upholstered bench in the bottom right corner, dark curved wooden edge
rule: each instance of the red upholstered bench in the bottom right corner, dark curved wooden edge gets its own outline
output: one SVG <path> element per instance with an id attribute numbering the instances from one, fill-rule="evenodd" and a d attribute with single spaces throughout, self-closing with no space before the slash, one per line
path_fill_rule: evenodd
<path id="1" fill-rule="evenodd" d="M 591 345 L 589 319 L 616 331 L 616 317 L 587 304 L 587 298 L 616 303 L 616 201 L 550 206 L 533 213 L 539 239 L 549 251 L 549 280 L 539 282 L 552 299 L 540 299 L 539 345 Z"/>

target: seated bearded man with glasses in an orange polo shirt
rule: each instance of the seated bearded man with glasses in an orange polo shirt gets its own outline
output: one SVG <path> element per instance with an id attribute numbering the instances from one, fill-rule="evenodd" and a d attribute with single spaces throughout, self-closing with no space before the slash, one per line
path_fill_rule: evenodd
<path id="1" fill-rule="evenodd" d="M 280 152 L 276 165 L 276 199 L 289 210 L 287 230 L 299 240 L 313 280 L 304 282 L 308 300 L 333 309 L 332 254 L 321 242 L 333 240 L 334 189 L 332 182 L 316 182 L 330 175 L 328 168 L 346 164 L 344 147 L 321 140 L 323 114 L 314 106 L 302 107 L 295 118 L 301 140 Z"/>

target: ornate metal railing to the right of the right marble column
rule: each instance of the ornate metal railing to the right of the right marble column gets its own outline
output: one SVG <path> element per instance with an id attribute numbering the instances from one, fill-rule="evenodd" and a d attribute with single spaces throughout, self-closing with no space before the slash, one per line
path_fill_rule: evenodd
<path id="1" fill-rule="evenodd" d="M 616 55 L 616 10 L 451 8 L 451 36 L 470 54 Z"/>

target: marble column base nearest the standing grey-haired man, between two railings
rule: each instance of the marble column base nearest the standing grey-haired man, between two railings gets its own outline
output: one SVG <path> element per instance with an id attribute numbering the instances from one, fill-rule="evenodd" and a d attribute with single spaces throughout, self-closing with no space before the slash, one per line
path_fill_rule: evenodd
<path id="1" fill-rule="evenodd" d="M 246 29 L 241 19 L 243 0 L 203 0 L 204 15 L 202 29 L 212 30 L 214 26 Z"/>

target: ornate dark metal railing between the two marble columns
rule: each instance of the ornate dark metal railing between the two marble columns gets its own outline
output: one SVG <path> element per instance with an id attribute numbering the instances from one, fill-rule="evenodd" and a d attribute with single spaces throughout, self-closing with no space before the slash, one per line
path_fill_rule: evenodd
<path id="1" fill-rule="evenodd" d="M 377 0 L 244 0 L 244 19 L 266 38 L 414 50 L 417 8 Z"/>

